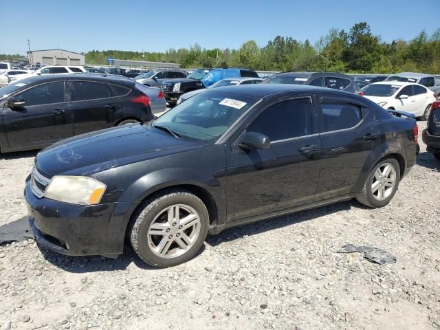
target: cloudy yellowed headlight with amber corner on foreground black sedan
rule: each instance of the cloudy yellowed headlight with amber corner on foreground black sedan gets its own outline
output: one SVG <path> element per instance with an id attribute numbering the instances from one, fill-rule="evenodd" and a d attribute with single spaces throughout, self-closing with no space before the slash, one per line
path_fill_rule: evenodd
<path id="1" fill-rule="evenodd" d="M 44 197 L 65 203 L 91 205 L 100 202 L 107 186 L 91 177 L 54 176 Z"/>

